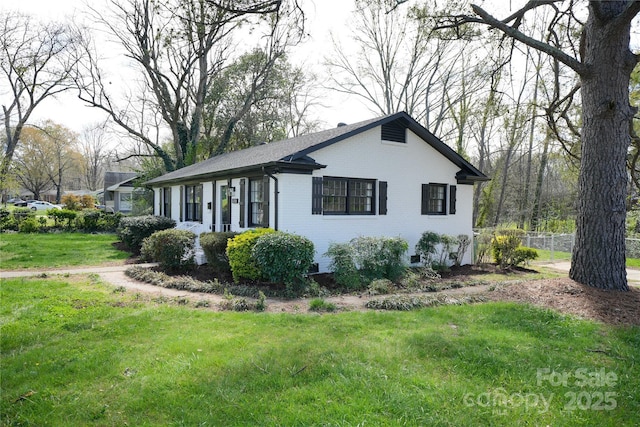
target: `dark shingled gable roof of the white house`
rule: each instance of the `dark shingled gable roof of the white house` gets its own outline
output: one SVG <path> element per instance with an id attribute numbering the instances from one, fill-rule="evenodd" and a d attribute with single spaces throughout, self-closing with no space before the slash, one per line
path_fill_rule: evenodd
<path id="1" fill-rule="evenodd" d="M 168 182 L 185 182 L 205 177 L 239 175 L 248 171 L 265 169 L 279 170 L 281 172 L 304 172 L 321 169 L 325 165 L 317 163 L 309 156 L 314 151 L 377 126 L 395 121 L 409 128 L 439 153 L 460 167 L 460 171 L 456 174 L 458 182 L 469 184 L 474 181 L 486 181 L 489 179 L 411 116 L 405 112 L 400 112 L 350 125 L 341 125 L 322 132 L 224 153 L 169 172 L 146 182 L 146 184 L 157 186 Z"/>

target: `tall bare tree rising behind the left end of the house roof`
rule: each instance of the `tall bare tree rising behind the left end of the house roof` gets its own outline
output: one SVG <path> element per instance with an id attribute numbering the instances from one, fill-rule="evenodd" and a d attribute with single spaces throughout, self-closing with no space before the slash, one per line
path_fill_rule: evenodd
<path id="1" fill-rule="evenodd" d="M 230 54 L 230 35 L 242 20 L 266 17 L 267 35 L 272 36 L 288 14 L 299 10 L 295 3 L 272 0 L 111 0 L 110 5 L 113 15 L 94 9 L 94 17 L 138 65 L 144 92 L 151 98 L 145 96 L 135 105 L 134 97 L 128 97 L 119 104 L 109 93 L 90 45 L 90 62 L 85 66 L 90 72 L 84 73 L 90 77 L 79 82 L 80 98 L 106 111 L 117 125 L 152 148 L 168 171 L 195 160 L 206 94 Z M 161 117 L 169 128 L 171 152 L 147 133 L 147 115 Z"/>

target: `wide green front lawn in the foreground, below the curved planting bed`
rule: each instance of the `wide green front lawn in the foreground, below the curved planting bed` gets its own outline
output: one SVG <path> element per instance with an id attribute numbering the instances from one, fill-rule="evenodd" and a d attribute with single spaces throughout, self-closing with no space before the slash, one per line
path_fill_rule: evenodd
<path id="1" fill-rule="evenodd" d="M 219 313 L 97 276 L 0 286 L 3 425 L 640 423 L 639 328 L 506 303 Z"/>

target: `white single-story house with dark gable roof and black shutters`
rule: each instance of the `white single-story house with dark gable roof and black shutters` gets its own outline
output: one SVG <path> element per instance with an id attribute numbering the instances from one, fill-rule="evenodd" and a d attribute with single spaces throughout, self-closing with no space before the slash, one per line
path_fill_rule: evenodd
<path id="1" fill-rule="evenodd" d="M 326 271 L 329 244 L 357 236 L 400 236 L 410 255 L 427 230 L 471 237 L 473 184 L 486 180 L 396 113 L 222 154 L 147 184 L 154 213 L 180 228 L 296 233 L 313 241 Z"/>

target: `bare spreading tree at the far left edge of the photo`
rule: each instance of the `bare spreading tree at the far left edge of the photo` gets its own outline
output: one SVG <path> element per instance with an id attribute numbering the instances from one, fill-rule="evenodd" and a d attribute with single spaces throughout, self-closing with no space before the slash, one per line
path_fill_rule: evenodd
<path id="1" fill-rule="evenodd" d="M 45 99 L 72 87 L 80 35 L 64 24 L 42 24 L 29 15 L 5 11 L 0 12 L 0 40 L 0 71 L 7 84 L 1 94 L 2 181 L 33 111 Z"/>

